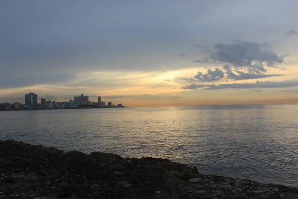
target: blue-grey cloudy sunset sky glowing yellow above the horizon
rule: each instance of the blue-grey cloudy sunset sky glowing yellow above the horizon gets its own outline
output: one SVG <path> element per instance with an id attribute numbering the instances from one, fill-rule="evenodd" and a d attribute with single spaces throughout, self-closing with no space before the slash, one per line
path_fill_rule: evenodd
<path id="1" fill-rule="evenodd" d="M 298 102 L 297 0 L 3 0 L 0 103 Z"/>

